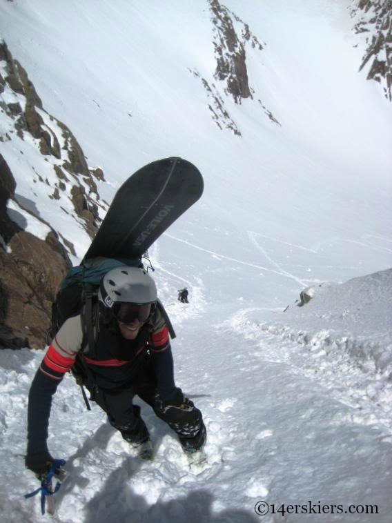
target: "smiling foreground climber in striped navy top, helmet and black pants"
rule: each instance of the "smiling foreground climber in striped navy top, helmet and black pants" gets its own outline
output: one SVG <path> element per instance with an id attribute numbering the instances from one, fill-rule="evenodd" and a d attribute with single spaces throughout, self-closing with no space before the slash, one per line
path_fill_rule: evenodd
<path id="1" fill-rule="evenodd" d="M 184 452 L 193 453 L 206 442 L 202 413 L 175 385 L 168 327 L 157 307 L 153 278 L 143 268 L 110 270 L 101 280 L 98 314 L 95 354 L 84 355 L 81 316 L 70 317 L 32 381 L 26 466 L 39 477 L 53 462 L 46 444 L 52 396 L 75 364 L 81 366 L 77 372 L 83 375 L 91 399 L 142 457 L 152 446 L 140 407 L 133 404 L 136 395 L 178 434 Z M 70 430 L 77 430 L 71 421 Z"/>

